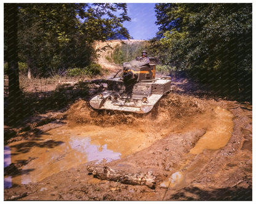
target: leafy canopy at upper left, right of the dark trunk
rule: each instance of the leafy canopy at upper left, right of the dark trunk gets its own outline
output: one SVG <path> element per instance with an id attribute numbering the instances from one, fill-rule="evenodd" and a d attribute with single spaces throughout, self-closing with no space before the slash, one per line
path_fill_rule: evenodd
<path id="1" fill-rule="evenodd" d="M 87 66 L 89 74 L 99 74 L 99 67 L 90 65 L 97 56 L 93 47 L 95 40 L 105 41 L 115 34 L 130 37 L 122 26 L 130 20 L 126 4 L 26 3 L 18 6 L 18 55 L 34 77 Z"/>

